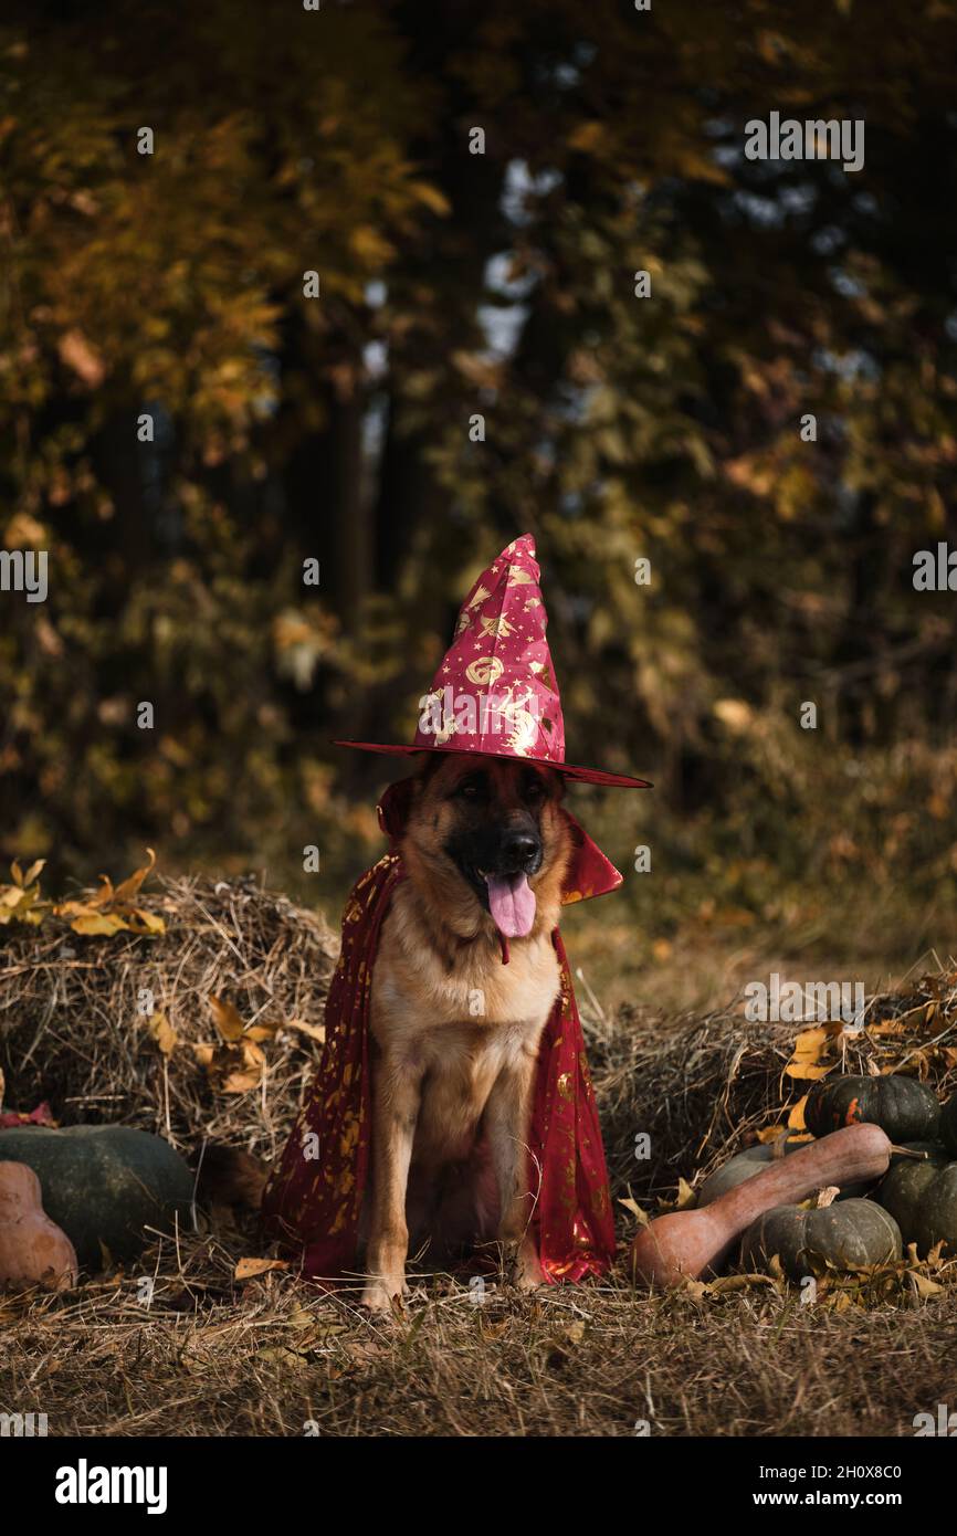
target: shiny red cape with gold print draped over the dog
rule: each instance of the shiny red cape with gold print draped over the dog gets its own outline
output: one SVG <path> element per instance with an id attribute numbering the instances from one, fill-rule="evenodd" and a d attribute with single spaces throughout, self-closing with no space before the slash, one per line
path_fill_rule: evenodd
<path id="1" fill-rule="evenodd" d="M 395 791 L 395 794 L 393 794 Z M 404 785 L 393 785 L 379 817 L 393 836 L 402 823 Z M 390 799 L 392 797 L 392 799 Z M 564 813 L 568 816 L 568 813 Z M 598 895 L 619 872 L 568 816 L 576 852 L 564 900 Z M 267 1230 L 303 1255 L 303 1272 L 335 1279 L 358 1273 L 358 1229 L 370 1141 L 369 1003 L 372 968 L 392 892 L 404 879 L 398 852 L 367 869 L 343 914 L 343 951 L 326 1005 L 326 1049 L 309 1097 L 270 1175 Z M 594 1092 L 558 928 L 561 992 L 538 1057 L 528 1187 L 531 1218 L 548 1281 L 604 1273 L 614 1256 L 614 1220 Z"/>

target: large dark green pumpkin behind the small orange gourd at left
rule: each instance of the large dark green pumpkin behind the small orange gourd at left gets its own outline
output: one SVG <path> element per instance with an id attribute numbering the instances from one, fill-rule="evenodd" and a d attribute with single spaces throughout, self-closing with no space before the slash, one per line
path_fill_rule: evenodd
<path id="1" fill-rule="evenodd" d="M 0 1130 L 0 1161 L 26 1163 L 40 1180 L 43 1209 L 86 1270 L 137 1255 L 146 1226 L 189 1224 L 194 1177 L 169 1141 L 131 1126 L 14 1126 Z"/>

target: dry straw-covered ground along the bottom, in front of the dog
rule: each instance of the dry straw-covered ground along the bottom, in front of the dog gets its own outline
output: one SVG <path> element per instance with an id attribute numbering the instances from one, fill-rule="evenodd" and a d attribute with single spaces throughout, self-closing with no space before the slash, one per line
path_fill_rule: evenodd
<path id="1" fill-rule="evenodd" d="M 0 1312 L 0 1405 L 52 1435 L 886 1435 L 952 1399 L 946 1293 L 880 1306 L 794 1292 L 639 1295 L 624 1278 L 482 1304 L 435 1279 L 396 1321 L 235 1252 L 172 1247 L 147 1309 L 108 1279 Z M 831 1298 L 833 1299 L 833 1298 Z M 866 1295 L 862 1298 L 869 1299 Z"/>

